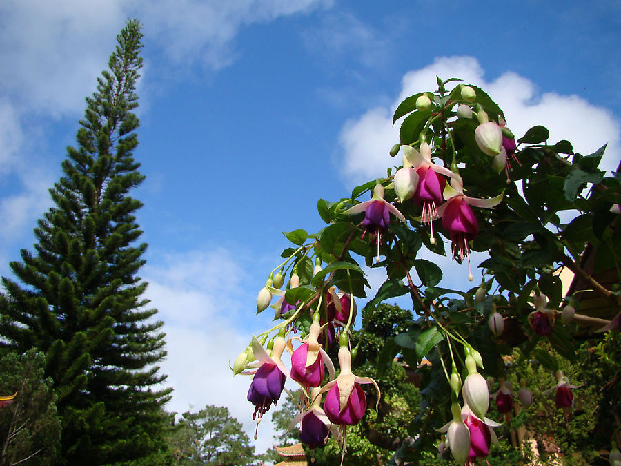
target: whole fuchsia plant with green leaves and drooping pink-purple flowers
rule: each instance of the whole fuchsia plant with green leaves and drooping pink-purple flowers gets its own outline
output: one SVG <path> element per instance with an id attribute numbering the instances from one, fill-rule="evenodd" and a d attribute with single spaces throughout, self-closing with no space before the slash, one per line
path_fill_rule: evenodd
<path id="1" fill-rule="evenodd" d="M 565 307 L 565 325 L 556 322 L 563 299 L 557 276 L 561 268 L 576 273 L 607 300 L 613 310 L 609 320 L 617 317 L 602 331 L 619 329 L 619 293 L 582 269 L 580 257 L 593 242 L 604 251 L 596 258 L 605 266 L 614 266 L 605 262 L 608 258 L 618 258 L 607 241 L 621 229 L 621 216 L 615 215 L 621 179 L 598 170 L 604 148 L 587 157 L 575 154 L 567 141 L 549 142 L 543 126 L 516 139 L 493 99 L 458 81 L 438 78 L 435 92 L 413 95 L 397 107 L 393 123 L 401 121 L 400 140 L 389 153 L 395 157 L 402 152 L 400 163 L 338 202 L 320 199 L 317 210 L 326 225 L 317 233 L 284 233 L 294 247 L 282 253 L 283 262 L 257 296 L 259 312 L 279 297 L 273 305 L 276 322 L 253 338 L 233 371 L 253 376 L 248 400 L 257 420 L 277 402 L 287 378 L 297 383 L 303 394 L 293 425 L 313 449 L 325 445 L 333 431 L 345 451 L 346 426 L 364 425 L 364 414 L 373 409 L 367 406 L 367 396 L 373 394 L 369 385 L 377 392 L 375 409 L 386 402 L 377 382 L 357 374 L 352 361 L 357 351 L 349 343 L 355 335 L 355 298 L 366 298 L 368 287 L 360 258 L 367 267 L 386 269 L 385 282 L 362 309 L 363 319 L 375 304 L 402 295 L 411 297 L 416 313 L 403 335 L 386 341 L 383 364 L 391 365 L 394 358 L 405 361 L 433 388 L 421 392 L 424 412 L 408 429 L 408 435 L 419 429 L 417 440 L 404 442 L 399 458 L 420 461 L 421 450 L 440 440 L 436 429 L 446 432 L 445 445 L 457 463 L 473 464 L 491 454 L 491 427 L 498 424 L 486 418 L 485 377 L 500 376 L 502 356 L 518 347 L 549 368 L 558 356 L 573 358 L 567 342 L 571 325 L 581 317 L 575 313 L 580 292 L 574 293 L 575 309 Z M 562 223 L 556 211 L 571 209 L 580 211 L 580 217 Z M 470 280 L 471 251 L 487 254 L 478 264 L 483 273 L 478 289 L 439 286 L 444 271 L 428 258 L 446 255 L 449 244 L 453 260 L 468 262 Z M 426 258 L 419 255 L 423 247 Z M 542 336 L 549 337 L 544 342 L 551 353 L 538 348 Z M 281 360 L 285 348 L 291 354 L 290 370 Z M 336 351 L 339 371 L 328 356 Z M 423 360 L 429 364 L 417 369 Z M 385 369 L 377 367 L 380 376 Z M 447 386 L 449 393 L 438 393 L 446 390 L 438 387 Z M 571 388 L 560 379 L 559 407 L 571 406 Z M 526 407 L 533 395 L 522 385 L 517 399 Z M 501 414 L 509 414 L 513 394 L 502 381 L 495 402 Z"/>

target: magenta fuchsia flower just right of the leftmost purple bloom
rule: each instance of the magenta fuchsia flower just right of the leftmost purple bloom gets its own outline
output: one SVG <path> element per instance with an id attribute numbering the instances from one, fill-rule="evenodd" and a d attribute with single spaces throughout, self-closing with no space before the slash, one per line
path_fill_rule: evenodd
<path id="1" fill-rule="evenodd" d="M 315 312 L 308 336 L 304 340 L 294 337 L 303 344 L 291 355 L 291 378 L 306 388 L 322 385 L 325 373 L 324 364 L 328 367 L 330 378 L 334 378 L 334 365 L 326 351 L 322 349 L 322 345 L 317 342 L 321 331 L 319 313 Z M 288 344 L 291 344 L 291 340 Z"/>

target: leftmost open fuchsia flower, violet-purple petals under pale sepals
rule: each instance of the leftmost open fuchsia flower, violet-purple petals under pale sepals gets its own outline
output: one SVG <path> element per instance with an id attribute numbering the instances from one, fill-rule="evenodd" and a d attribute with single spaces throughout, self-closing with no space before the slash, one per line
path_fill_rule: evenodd
<path id="1" fill-rule="evenodd" d="M 258 423 L 266 411 L 269 411 L 272 403 L 276 405 L 279 400 L 289 371 L 280 360 L 285 348 L 285 340 L 282 336 L 275 338 L 271 357 L 254 336 L 252 348 L 257 364 L 260 365 L 256 371 L 244 373 L 254 374 L 248 389 L 248 401 L 255 405 L 253 420 L 257 420 Z"/>

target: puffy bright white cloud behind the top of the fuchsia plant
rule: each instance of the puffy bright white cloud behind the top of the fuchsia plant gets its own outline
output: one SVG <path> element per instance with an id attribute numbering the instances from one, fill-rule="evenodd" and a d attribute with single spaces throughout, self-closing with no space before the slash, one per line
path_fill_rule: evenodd
<path id="1" fill-rule="evenodd" d="M 616 168 L 621 158 L 621 126 L 609 110 L 593 106 L 577 95 L 539 95 L 532 81 L 514 72 L 487 82 L 484 70 L 473 57 L 441 57 L 425 68 L 404 75 L 402 90 L 391 108 L 372 108 L 344 124 L 339 141 L 344 149 L 344 175 L 348 184 L 383 176 L 387 166 L 400 163 L 388 156 L 388 150 L 398 142 L 400 126 L 397 122 L 392 127 L 393 112 L 409 95 L 435 89 L 436 75 L 442 79 L 460 77 L 486 90 L 504 110 L 509 128 L 518 137 L 531 126 L 542 124 L 550 130 L 551 142 L 568 139 L 574 151 L 584 155 L 608 142 L 602 168 Z"/>

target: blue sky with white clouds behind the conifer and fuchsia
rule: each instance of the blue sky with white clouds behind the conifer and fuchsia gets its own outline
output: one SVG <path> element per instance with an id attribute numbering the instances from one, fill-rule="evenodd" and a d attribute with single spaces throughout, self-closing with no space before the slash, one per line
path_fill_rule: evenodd
<path id="1" fill-rule="evenodd" d="M 128 17 L 145 34 L 141 276 L 166 322 L 172 411 L 227 405 L 253 429 L 248 380 L 227 364 L 266 325 L 254 302 L 281 232 L 317 231 L 317 198 L 385 173 L 395 106 L 433 90 L 436 74 L 489 90 L 517 135 L 543 124 L 582 153 L 609 142 L 607 168 L 620 159 L 618 1 L 5 0 L 3 275 L 32 249 L 83 99 Z M 442 266 L 446 286 L 468 286 L 463 267 Z M 263 449 L 268 423 L 259 431 Z"/>

